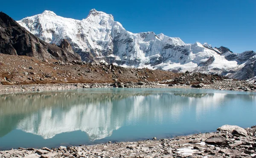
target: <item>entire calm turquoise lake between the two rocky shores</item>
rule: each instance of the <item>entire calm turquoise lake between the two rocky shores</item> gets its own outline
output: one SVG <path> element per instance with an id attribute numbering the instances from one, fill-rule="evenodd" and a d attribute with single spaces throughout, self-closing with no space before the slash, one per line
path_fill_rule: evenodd
<path id="1" fill-rule="evenodd" d="M 169 138 L 256 125 L 256 93 L 79 89 L 0 95 L 0 149 Z"/>

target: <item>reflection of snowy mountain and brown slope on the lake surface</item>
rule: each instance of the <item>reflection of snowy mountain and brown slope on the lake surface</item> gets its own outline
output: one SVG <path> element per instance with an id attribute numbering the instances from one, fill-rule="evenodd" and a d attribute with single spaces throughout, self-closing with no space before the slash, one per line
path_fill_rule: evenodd
<path id="1" fill-rule="evenodd" d="M 252 105 L 255 110 L 255 94 L 217 92 L 88 89 L 0 95 L 0 137 L 14 129 L 44 139 L 81 130 L 95 141 L 111 136 L 122 126 L 185 124 L 180 122 L 184 117 L 201 121 L 208 117 L 205 113 L 214 113 L 233 101 Z"/>

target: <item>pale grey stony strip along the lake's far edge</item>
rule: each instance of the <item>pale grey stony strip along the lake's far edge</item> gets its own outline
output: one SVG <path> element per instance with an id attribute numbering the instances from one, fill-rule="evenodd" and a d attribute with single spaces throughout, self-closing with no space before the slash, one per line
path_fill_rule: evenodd
<path id="1" fill-rule="evenodd" d="M 246 84 L 246 81 L 223 80 L 212 84 L 198 85 L 168 84 L 160 82 L 128 82 L 128 83 L 49 83 L 49 84 L 24 84 L 24 85 L 0 85 L 0 94 L 12 94 L 19 92 L 40 92 L 52 90 L 68 90 L 83 88 L 182 88 L 182 89 L 215 89 L 239 92 L 256 92 L 256 85 Z M 238 86 L 241 85 L 241 86 Z"/>

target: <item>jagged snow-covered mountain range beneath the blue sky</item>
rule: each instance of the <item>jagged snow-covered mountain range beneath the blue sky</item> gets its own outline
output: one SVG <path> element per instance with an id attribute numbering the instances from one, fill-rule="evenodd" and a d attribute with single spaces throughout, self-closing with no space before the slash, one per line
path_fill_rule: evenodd
<path id="1" fill-rule="evenodd" d="M 256 76 L 253 51 L 236 54 L 225 47 L 212 48 L 207 43 L 186 44 L 178 37 L 162 33 L 134 34 L 114 21 L 111 14 L 95 9 L 83 20 L 44 11 L 18 23 L 48 43 L 58 45 L 61 39 L 69 40 L 84 61 L 99 60 L 125 67 L 175 72 L 218 73 L 239 79 Z"/>

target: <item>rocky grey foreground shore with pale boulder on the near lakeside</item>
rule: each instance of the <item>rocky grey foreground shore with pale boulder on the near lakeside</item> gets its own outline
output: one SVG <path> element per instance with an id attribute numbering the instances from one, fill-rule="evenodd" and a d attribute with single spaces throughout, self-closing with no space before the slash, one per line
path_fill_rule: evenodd
<path id="1" fill-rule="evenodd" d="M 1 158 L 256 158 L 256 126 L 224 125 L 217 132 L 152 138 L 137 142 L 108 142 L 92 146 L 0 151 Z"/>

